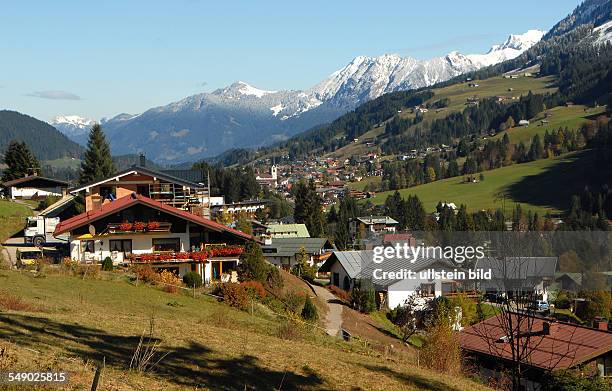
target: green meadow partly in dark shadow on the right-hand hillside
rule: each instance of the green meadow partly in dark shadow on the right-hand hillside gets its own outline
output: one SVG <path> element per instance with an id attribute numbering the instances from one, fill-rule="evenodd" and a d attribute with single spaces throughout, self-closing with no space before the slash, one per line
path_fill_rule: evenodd
<path id="1" fill-rule="evenodd" d="M 428 212 L 434 211 L 439 201 L 465 204 L 471 211 L 502 208 L 501 193 L 507 212 L 519 203 L 541 215 L 558 214 L 569 207 L 571 196 L 584 188 L 584 172 L 593 169 L 593 159 L 592 151 L 571 153 L 485 171 L 485 180 L 478 183 L 463 183 L 463 177 L 455 177 L 400 193 L 403 197 L 416 194 Z M 378 193 L 372 201 L 382 204 L 392 193 Z"/>

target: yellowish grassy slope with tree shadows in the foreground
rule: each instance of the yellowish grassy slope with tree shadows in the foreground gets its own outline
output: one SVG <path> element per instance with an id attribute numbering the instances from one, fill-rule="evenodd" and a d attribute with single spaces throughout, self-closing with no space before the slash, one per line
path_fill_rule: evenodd
<path id="1" fill-rule="evenodd" d="M 72 388 L 93 377 L 86 359 L 106 358 L 103 389 L 429 389 L 477 390 L 469 380 L 431 373 L 377 357 L 359 347 L 312 335 L 278 338 L 277 320 L 251 316 L 209 297 L 168 294 L 121 278 L 82 280 L 49 274 L 0 272 L 3 289 L 44 312 L 0 312 L 0 345 L 14 367 L 64 368 Z M 125 370 L 149 319 L 161 351 L 154 373 Z M 10 342 L 9 342 L 10 340 Z M 32 354 L 35 349 L 40 354 Z"/>

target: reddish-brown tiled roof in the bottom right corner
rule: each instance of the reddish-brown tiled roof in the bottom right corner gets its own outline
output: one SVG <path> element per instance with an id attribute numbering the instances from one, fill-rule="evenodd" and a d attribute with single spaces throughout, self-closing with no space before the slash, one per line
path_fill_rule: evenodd
<path id="1" fill-rule="evenodd" d="M 512 314 L 513 324 L 518 317 Z M 506 336 L 500 324 L 505 316 L 493 316 L 487 320 L 467 327 L 459 333 L 461 347 L 470 352 L 511 360 L 510 343 L 503 342 Z M 522 317 L 521 332 L 514 326 L 514 334 L 526 336 L 531 331 L 529 340 L 530 356 L 525 364 L 546 370 L 567 369 L 587 362 L 612 350 L 612 333 L 606 330 L 592 329 L 564 322 L 550 322 L 543 318 L 531 317 L 531 330 L 527 330 L 526 316 Z M 502 323 L 503 322 L 503 323 Z M 544 323 L 549 322 L 550 333 L 542 332 Z M 525 337 L 526 338 L 526 337 Z"/>

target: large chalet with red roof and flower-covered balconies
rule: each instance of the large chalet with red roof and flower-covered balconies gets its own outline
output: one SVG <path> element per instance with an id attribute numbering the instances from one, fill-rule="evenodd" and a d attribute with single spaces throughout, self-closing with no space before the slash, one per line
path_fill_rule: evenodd
<path id="1" fill-rule="evenodd" d="M 205 283 L 234 270 L 250 235 L 166 203 L 132 193 L 60 222 L 70 256 L 82 263 L 149 264 L 179 276 L 194 271 Z"/>

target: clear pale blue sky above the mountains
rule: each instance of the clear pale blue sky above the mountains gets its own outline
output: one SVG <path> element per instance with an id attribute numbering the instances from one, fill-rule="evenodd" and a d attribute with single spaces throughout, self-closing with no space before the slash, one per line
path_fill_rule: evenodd
<path id="1" fill-rule="evenodd" d="M 242 80 L 307 89 L 358 55 L 484 53 L 579 1 L 11 1 L 0 109 L 44 121 L 136 114 Z"/>

